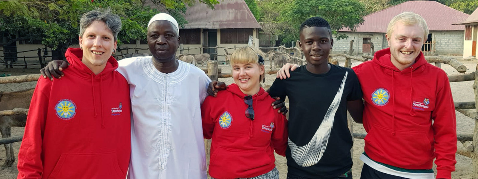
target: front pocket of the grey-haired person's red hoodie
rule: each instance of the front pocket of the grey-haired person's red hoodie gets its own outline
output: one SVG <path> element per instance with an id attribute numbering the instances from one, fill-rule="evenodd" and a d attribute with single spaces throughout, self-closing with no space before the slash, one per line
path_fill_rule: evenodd
<path id="1" fill-rule="evenodd" d="M 115 152 L 62 154 L 49 179 L 125 179 Z"/>

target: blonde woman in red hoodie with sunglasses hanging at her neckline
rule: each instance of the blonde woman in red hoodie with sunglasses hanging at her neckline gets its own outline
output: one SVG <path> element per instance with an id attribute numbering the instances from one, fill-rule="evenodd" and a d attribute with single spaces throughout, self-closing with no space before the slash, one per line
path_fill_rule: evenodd
<path id="1" fill-rule="evenodd" d="M 234 84 L 208 96 L 201 106 L 203 133 L 212 138 L 212 179 L 279 179 L 275 152 L 285 156 L 287 120 L 260 87 L 261 51 L 245 46 L 231 55 Z"/>

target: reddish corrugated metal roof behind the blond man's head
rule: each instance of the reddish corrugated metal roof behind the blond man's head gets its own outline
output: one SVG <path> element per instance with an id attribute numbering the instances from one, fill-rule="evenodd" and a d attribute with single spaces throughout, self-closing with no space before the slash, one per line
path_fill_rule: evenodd
<path id="1" fill-rule="evenodd" d="M 411 11 L 422 16 L 430 31 L 465 30 L 463 25 L 452 24 L 465 21 L 469 16 L 436 1 L 413 0 L 365 16 L 364 23 L 357 28 L 356 32 L 386 33 L 391 19 L 405 11 Z M 339 31 L 351 32 L 348 28 Z"/>

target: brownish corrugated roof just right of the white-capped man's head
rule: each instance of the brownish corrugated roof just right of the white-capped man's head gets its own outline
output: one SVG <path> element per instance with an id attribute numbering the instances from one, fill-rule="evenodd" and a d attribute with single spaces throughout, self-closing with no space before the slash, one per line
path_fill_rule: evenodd
<path id="1" fill-rule="evenodd" d="M 151 0 L 147 0 L 145 5 L 158 7 Z M 196 2 L 193 7 L 187 7 L 184 15 L 185 29 L 229 29 L 229 28 L 261 28 L 252 12 L 250 12 L 244 0 L 224 0 L 210 9 L 206 4 Z"/>

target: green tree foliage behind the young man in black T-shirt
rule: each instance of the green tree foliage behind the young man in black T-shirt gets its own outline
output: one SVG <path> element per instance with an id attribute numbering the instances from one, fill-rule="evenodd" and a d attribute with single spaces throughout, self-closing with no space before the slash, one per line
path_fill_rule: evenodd
<path id="1" fill-rule="evenodd" d="M 313 16 L 327 20 L 337 39 L 346 38 L 346 35 L 337 34 L 343 27 L 355 30 L 363 23 L 365 16 L 364 5 L 358 0 L 294 0 L 290 9 L 282 11 L 281 17 L 293 27 L 288 34 L 282 34 L 287 42 L 298 39 L 300 24 Z"/>

